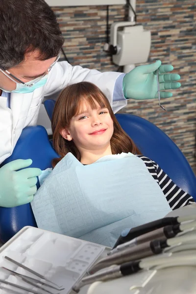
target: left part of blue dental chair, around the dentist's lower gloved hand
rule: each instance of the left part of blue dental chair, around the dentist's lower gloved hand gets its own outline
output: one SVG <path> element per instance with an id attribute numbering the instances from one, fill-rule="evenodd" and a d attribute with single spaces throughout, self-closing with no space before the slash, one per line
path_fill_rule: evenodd
<path id="1" fill-rule="evenodd" d="M 10 157 L 2 165 L 15 159 L 31 158 L 33 163 L 31 168 L 46 170 L 51 167 L 51 160 L 58 157 L 52 148 L 46 129 L 41 126 L 26 127 Z M 39 181 L 37 183 L 39 188 Z M 37 227 L 30 203 L 13 207 L 0 207 L 0 241 L 7 242 L 24 226 Z"/>

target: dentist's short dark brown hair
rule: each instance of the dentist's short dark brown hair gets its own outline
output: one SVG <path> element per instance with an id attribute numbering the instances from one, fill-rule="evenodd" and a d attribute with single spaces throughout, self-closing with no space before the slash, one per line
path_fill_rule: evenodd
<path id="1" fill-rule="evenodd" d="M 0 67 L 9 69 L 38 49 L 39 60 L 55 57 L 64 38 L 44 0 L 0 0 Z"/>

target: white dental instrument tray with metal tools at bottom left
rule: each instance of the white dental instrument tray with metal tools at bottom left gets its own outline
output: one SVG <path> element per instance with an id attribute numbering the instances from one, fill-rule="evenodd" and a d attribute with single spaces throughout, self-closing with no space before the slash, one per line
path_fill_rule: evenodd
<path id="1" fill-rule="evenodd" d="M 33 291 L 37 294 L 46 294 L 47 291 L 51 294 L 68 294 L 104 249 L 105 246 L 102 245 L 26 226 L 0 248 L 0 294 L 27 294 Z M 9 259 L 21 264 L 22 267 Z M 45 287 L 45 291 L 34 287 L 32 283 L 26 283 L 22 275 L 39 280 L 41 285 L 44 284 L 41 277 L 25 270 L 23 266 L 43 275 L 45 284 L 55 284 L 64 290 Z M 11 271 L 21 274 L 22 278 Z M 4 284 L 1 280 L 28 288 L 29 292 Z"/>

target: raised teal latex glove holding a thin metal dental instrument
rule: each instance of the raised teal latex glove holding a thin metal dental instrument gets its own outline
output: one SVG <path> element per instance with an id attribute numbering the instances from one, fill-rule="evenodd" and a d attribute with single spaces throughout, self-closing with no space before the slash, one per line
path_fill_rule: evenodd
<path id="1" fill-rule="evenodd" d="M 161 61 L 148 65 L 141 65 L 126 73 L 123 77 L 123 94 L 125 98 L 137 100 L 157 98 L 156 70 L 159 69 L 160 90 L 177 89 L 181 86 L 180 75 L 168 73 L 173 70 L 172 65 L 161 65 Z M 161 98 L 172 97 L 171 92 L 160 92 Z"/>

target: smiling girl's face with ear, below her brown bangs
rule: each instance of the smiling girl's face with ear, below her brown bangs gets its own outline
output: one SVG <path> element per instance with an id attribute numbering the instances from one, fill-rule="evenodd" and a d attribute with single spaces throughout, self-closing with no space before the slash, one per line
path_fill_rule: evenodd
<path id="1" fill-rule="evenodd" d="M 108 147 L 114 132 L 113 120 L 107 108 L 91 109 L 86 102 L 79 114 L 71 119 L 70 127 L 61 130 L 61 135 L 68 141 L 73 140 L 81 152 L 82 149 L 98 150 Z"/>

